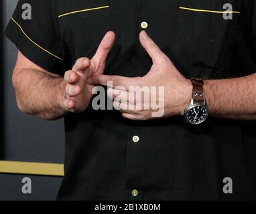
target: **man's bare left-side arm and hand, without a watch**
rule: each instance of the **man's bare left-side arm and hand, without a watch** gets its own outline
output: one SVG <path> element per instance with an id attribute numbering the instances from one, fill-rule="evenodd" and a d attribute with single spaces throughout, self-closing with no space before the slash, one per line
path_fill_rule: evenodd
<path id="1" fill-rule="evenodd" d="M 115 33 L 107 32 L 92 59 L 76 60 L 72 70 L 65 72 L 64 78 L 40 68 L 19 51 L 13 72 L 19 109 L 46 120 L 61 118 L 67 112 L 84 112 L 94 87 L 87 84 L 87 80 L 92 75 L 103 74 L 114 41 Z"/>

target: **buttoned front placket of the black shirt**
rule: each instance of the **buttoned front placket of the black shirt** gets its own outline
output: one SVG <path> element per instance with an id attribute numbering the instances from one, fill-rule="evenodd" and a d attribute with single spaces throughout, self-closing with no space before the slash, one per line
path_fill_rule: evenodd
<path id="1" fill-rule="evenodd" d="M 139 11 L 141 9 L 141 2 L 139 0 L 134 1 L 135 17 L 133 22 L 133 48 L 132 48 L 132 60 L 130 76 L 140 76 L 137 70 L 137 62 L 135 59 L 135 51 L 139 47 L 139 32 L 141 29 L 147 28 L 147 22 L 140 21 Z M 127 199 L 129 200 L 141 200 L 143 199 L 143 190 L 141 189 L 143 183 L 143 171 L 144 163 L 143 156 L 145 152 L 145 140 L 143 138 L 143 127 L 139 126 L 139 122 L 131 122 L 130 127 L 127 129 Z"/>

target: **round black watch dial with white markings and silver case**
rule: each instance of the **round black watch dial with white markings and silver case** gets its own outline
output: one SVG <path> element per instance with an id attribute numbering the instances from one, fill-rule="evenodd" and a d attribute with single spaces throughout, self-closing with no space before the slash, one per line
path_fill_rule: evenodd
<path id="1" fill-rule="evenodd" d="M 206 120 L 207 116 L 207 108 L 202 104 L 196 104 L 186 112 L 186 120 L 190 124 L 200 124 Z"/>

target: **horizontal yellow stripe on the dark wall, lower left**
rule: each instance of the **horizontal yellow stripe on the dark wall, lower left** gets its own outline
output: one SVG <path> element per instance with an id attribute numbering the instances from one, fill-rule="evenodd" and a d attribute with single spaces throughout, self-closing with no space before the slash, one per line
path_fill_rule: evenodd
<path id="1" fill-rule="evenodd" d="M 0 160 L 0 173 L 64 176 L 64 165 Z"/>

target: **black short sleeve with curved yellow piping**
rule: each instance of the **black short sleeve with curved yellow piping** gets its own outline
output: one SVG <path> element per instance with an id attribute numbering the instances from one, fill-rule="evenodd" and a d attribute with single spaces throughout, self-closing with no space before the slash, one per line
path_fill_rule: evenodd
<path id="1" fill-rule="evenodd" d="M 26 19 L 29 9 L 24 4 L 31 5 L 31 19 Z M 5 35 L 31 62 L 63 74 L 62 49 L 55 26 L 51 0 L 19 0 Z"/>

